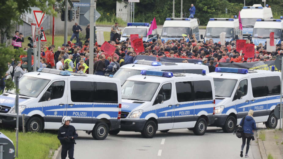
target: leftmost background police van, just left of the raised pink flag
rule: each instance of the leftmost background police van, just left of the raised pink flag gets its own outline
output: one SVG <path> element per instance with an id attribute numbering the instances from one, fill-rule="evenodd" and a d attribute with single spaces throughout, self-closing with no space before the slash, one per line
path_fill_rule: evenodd
<path id="1" fill-rule="evenodd" d="M 127 38 L 130 38 L 131 34 L 138 34 L 140 38 L 141 35 L 143 35 L 143 41 L 147 42 L 151 42 L 152 39 L 157 39 L 157 29 L 154 29 L 152 34 L 147 36 L 149 28 L 149 23 L 127 23 L 127 27 L 124 28 L 121 34 L 120 42 L 126 41 Z"/>

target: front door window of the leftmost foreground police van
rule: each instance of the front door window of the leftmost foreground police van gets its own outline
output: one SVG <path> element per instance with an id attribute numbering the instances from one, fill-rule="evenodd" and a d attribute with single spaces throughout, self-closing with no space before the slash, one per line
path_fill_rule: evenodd
<path id="1" fill-rule="evenodd" d="M 47 89 L 48 92 L 51 93 L 51 100 L 62 98 L 65 89 L 65 81 L 56 81 L 51 84 L 51 86 Z"/>

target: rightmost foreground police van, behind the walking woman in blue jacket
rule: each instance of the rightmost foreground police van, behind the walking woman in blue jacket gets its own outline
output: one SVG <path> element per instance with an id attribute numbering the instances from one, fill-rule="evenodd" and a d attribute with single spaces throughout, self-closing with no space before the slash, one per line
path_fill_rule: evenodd
<path id="1" fill-rule="evenodd" d="M 215 87 L 215 121 L 211 126 L 233 132 L 252 109 L 256 123 L 276 128 L 274 108 L 280 104 L 280 75 L 265 70 L 215 68 L 215 72 L 208 74 L 213 77 Z"/>

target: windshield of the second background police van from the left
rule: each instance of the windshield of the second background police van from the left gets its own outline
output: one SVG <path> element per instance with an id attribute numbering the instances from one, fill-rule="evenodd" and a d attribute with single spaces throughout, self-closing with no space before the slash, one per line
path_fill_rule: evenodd
<path id="1" fill-rule="evenodd" d="M 185 27 L 163 27 L 161 36 L 183 37 L 190 34 L 191 28 Z"/>

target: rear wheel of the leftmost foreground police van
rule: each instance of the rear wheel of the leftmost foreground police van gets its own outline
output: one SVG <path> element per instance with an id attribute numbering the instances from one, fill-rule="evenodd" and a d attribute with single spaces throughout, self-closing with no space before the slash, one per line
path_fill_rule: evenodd
<path id="1" fill-rule="evenodd" d="M 91 131 L 91 135 L 96 140 L 104 140 L 109 132 L 109 127 L 106 123 L 99 122 L 95 124 L 94 128 Z"/>

